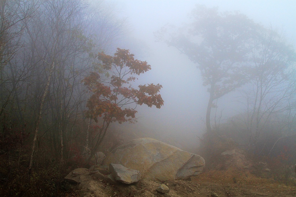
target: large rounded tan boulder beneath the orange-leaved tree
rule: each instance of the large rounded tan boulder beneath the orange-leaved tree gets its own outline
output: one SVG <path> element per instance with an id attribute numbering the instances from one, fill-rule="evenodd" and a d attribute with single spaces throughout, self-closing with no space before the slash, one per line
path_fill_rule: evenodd
<path id="1" fill-rule="evenodd" d="M 186 179 L 205 166 L 199 155 L 151 138 L 134 139 L 113 149 L 104 160 L 104 165 L 110 163 L 139 170 L 141 178 L 155 181 Z"/>

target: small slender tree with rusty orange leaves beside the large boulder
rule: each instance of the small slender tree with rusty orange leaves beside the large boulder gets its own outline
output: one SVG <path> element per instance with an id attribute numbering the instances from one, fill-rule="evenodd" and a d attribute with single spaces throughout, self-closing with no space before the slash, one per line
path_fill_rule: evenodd
<path id="1" fill-rule="evenodd" d="M 135 75 L 151 70 L 146 61 L 139 61 L 133 56 L 129 50 L 120 48 L 117 48 L 114 56 L 99 53 L 97 58 L 100 72 L 91 72 L 82 81 L 92 93 L 86 104 L 86 117 L 99 123 L 95 136 L 92 136 L 95 141 L 87 164 L 102 143 L 110 123 L 135 123 L 137 104 L 149 107 L 155 105 L 156 108 L 163 105 L 163 99 L 158 94 L 162 85 L 139 85 L 139 89 L 131 86 L 130 83 L 137 79 Z M 102 71 L 107 71 L 104 77 L 100 74 Z"/>

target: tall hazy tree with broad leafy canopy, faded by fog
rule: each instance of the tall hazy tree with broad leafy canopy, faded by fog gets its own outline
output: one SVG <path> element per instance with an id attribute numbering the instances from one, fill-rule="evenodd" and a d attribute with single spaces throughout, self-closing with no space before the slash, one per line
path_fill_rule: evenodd
<path id="1" fill-rule="evenodd" d="M 280 42 L 268 40 L 267 32 L 270 30 L 239 12 L 219 13 L 217 8 L 197 5 L 191 18 L 191 23 L 176 32 L 168 30 L 171 26 L 165 26 L 155 33 L 155 37 L 186 54 L 200 69 L 203 85 L 208 87 L 210 93 L 206 113 L 207 131 L 210 132 L 213 101 L 249 82 L 255 77 L 250 71 L 256 66 L 255 70 L 258 71 L 258 66 L 264 67 L 271 63 L 268 61 L 262 64 L 264 51 L 257 50 L 259 43 L 270 41 L 274 42 L 272 45 L 280 45 Z M 291 49 L 287 45 L 280 46 L 281 49 L 268 54 L 276 56 L 281 65 L 287 66 L 291 61 L 283 62 L 280 57 L 289 56 Z"/>

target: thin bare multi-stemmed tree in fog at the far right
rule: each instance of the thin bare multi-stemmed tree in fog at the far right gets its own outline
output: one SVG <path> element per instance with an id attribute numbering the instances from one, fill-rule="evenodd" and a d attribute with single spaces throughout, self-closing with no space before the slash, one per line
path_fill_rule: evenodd
<path id="1" fill-rule="evenodd" d="M 254 148 L 264 126 L 276 114 L 291 109 L 289 102 L 295 94 L 295 80 L 292 79 L 295 71 L 292 65 L 296 56 L 292 46 L 287 45 L 284 35 L 272 28 L 258 29 L 252 46 L 245 71 L 250 80 L 247 87 L 250 88 L 243 94 L 247 107 L 245 127 L 250 135 L 249 146 Z"/>

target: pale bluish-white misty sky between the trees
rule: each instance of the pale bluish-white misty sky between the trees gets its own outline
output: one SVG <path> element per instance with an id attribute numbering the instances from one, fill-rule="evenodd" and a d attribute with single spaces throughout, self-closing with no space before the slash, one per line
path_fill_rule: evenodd
<path id="1" fill-rule="evenodd" d="M 188 22 L 188 14 L 195 4 L 218 6 L 219 11 L 236 11 L 246 14 L 265 26 L 282 28 L 287 40 L 295 46 L 296 1 L 175 1 L 175 0 L 117 0 L 120 16 L 127 17 L 134 40 L 124 42 L 121 48 L 130 49 L 136 58 L 147 61 L 152 70 L 141 76 L 143 83 L 163 85 L 161 95 L 165 101 L 159 110 L 139 107 L 139 123 L 147 130 L 159 133 L 181 133 L 181 136 L 201 135 L 205 128 L 208 102 L 206 87 L 202 86 L 199 70 L 185 55 L 175 48 L 154 41 L 153 32 L 165 24 L 180 26 Z M 294 37 L 293 37 L 294 36 Z M 137 55 L 137 52 L 139 55 Z M 218 102 L 218 113 L 223 109 L 223 119 L 240 110 L 234 95 L 226 95 Z M 212 110 L 212 114 L 215 109 Z M 212 121 L 213 123 L 213 121 Z M 190 134 L 191 133 L 191 134 Z"/>

